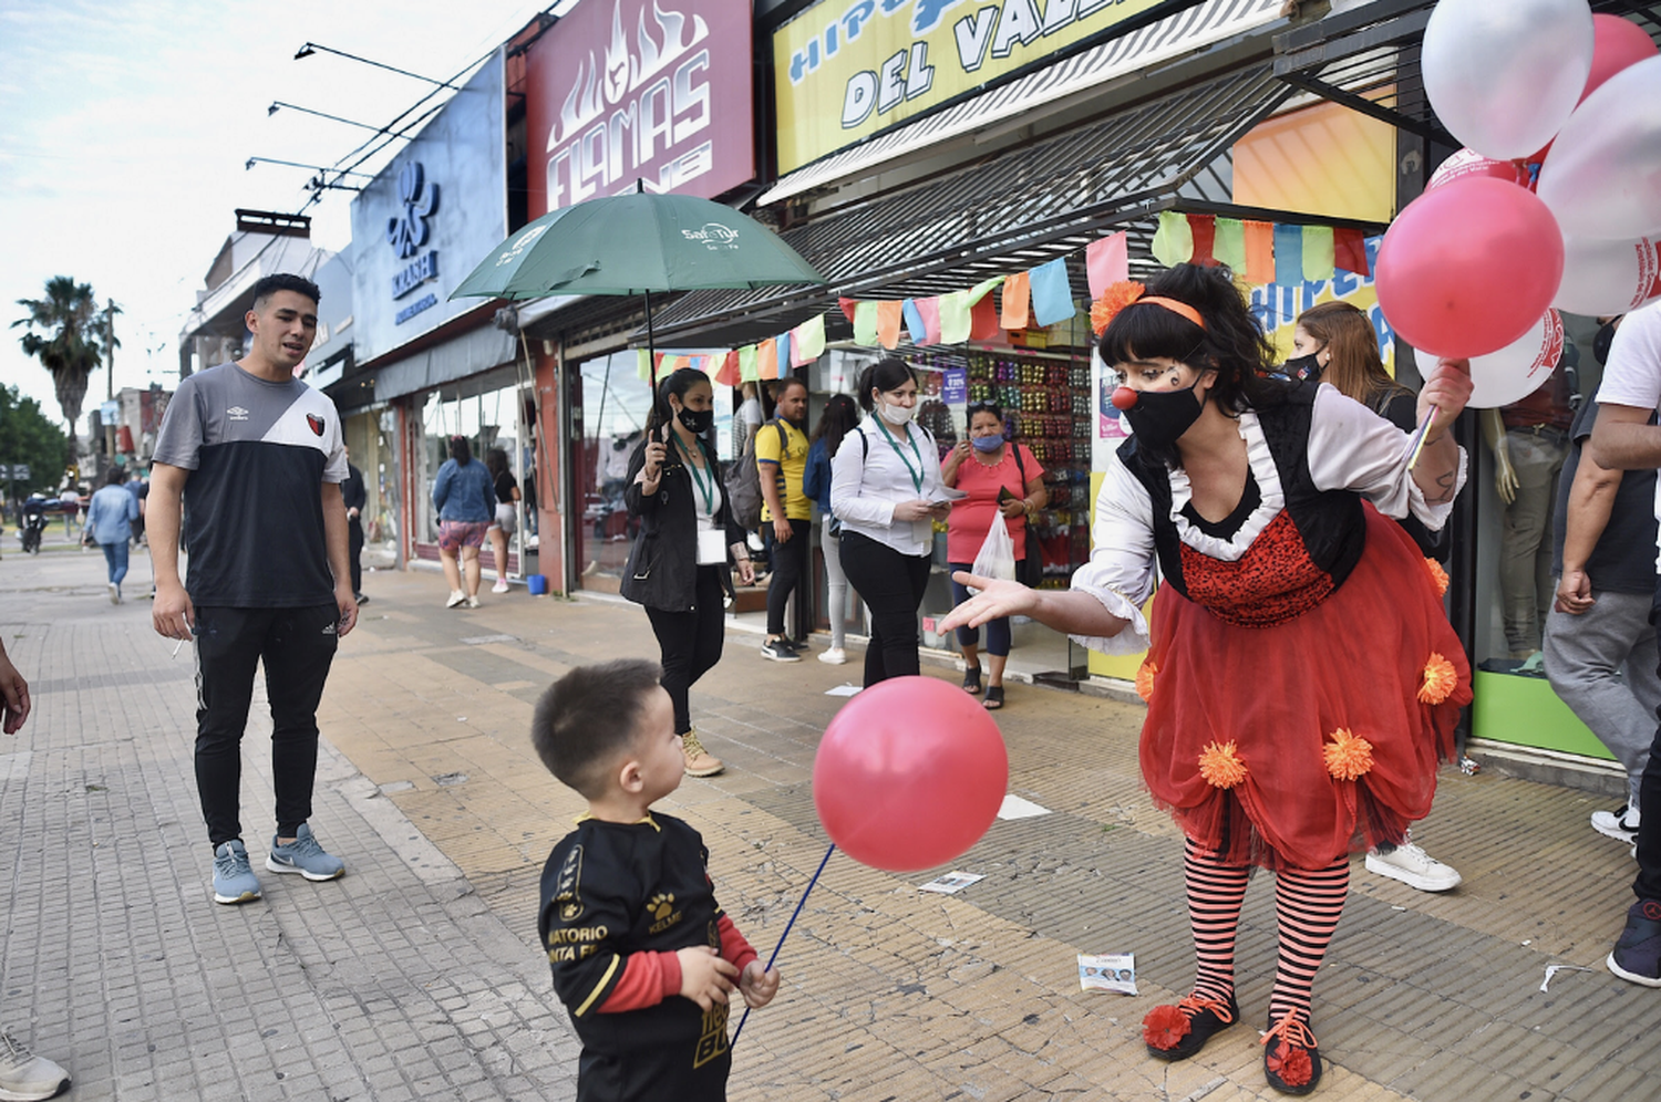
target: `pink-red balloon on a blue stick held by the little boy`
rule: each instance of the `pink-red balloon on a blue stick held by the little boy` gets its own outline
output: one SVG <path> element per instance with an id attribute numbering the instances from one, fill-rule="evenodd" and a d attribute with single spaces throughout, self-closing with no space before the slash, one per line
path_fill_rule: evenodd
<path id="1" fill-rule="evenodd" d="M 992 715 L 935 677 L 890 677 L 849 700 L 814 755 L 830 841 L 872 868 L 945 865 L 1003 803 L 1010 758 Z"/>

